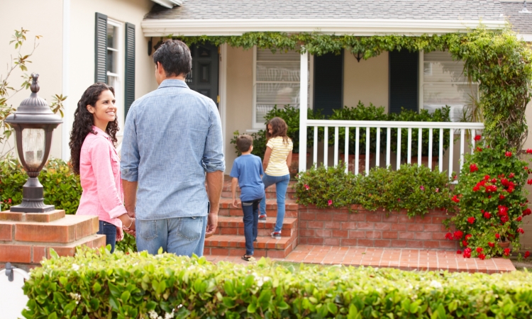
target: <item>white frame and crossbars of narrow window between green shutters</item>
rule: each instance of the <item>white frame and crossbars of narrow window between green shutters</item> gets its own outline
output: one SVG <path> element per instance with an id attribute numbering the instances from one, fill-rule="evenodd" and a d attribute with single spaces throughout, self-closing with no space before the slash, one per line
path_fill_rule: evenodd
<path id="1" fill-rule="evenodd" d="M 106 50 L 111 50 L 113 52 L 116 52 L 116 73 L 107 71 L 106 76 L 107 77 L 114 77 L 116 79 L 116 84 L 113 86 L 114 93 L 115 93 L 115 99 L 116 103 L 115 106 L 118 109 L 118 127 L 121 128 L 118 132 L 123 132 L 123 126 L 124 121 L 126 117 L 126 104 L 124 103 L 123 96 L 125 94 L 124 91 L 124 69 L 125 69 L 125 52 L 124 52 L 124 45 L 125 45 L 125 36 L 124 36 L 124 25 L 125 23 L 114 20 L 112 18 L 107 18 L 107 25 L 113 26 L 116 28 L 116 43 L 117 47 L 106 47 Z M 109 84 L 109 80 L 107 81 Z"/>

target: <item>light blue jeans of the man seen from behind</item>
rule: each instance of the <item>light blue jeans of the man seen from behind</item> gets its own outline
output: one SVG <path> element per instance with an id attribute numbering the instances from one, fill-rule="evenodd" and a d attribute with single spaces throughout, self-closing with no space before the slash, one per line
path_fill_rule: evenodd
<path id="1" fill-rule="evenodd" d="M 135 220 L 137 250 L 150 254 L 171 252 L 178 256 L 203 256 L 207 216 Z"/>

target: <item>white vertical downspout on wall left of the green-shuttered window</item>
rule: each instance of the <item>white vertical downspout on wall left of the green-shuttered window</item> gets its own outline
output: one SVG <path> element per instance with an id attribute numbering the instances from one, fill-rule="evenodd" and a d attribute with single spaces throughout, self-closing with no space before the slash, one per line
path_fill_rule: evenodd
<path id="1" fill-rule="evenodd" d="M 69 56 L 70 56 L 70 0 L 63 0 L 63 43 L 62 43 L 62 95 L 69 96 Z M 61 125 L 61 158 L 65 161 L 70 159 L 70 99 L 63 102 L 65 119 Z"/>

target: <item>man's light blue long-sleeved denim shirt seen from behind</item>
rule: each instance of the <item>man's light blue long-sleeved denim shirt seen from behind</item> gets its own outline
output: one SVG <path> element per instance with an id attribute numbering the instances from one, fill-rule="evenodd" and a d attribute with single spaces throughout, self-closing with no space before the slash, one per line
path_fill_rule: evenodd
<path id="1" fill-rule="evenodd" d="M 212 99 L 167 79 L 129 108 L 121 177 L 138 181 L 139 220 L 206 216 L 205 172 L 223 171 L 220 115 Z"/>

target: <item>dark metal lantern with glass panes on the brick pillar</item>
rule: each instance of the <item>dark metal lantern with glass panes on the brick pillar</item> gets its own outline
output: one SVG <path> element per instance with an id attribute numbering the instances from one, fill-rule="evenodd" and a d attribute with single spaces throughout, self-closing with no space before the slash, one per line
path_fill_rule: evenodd
<path id="1" fill-rule="evenodd" d="M 53 211 L 53 205 L 45 205 L 43 185 L 38 176 L 48 159 L 52 144 L 52 133 L 62 118 L 50 110 L 48 103 L 37 96 L 39 74 L 31 74 L 31 96 L 22 101 L 15 113 L 6 118 L 15 129 L 18 159 L 28 173 L 28 181 L 23 186 L 22 203 L 11 206 L 13 212 L 46 213 Z"/>

